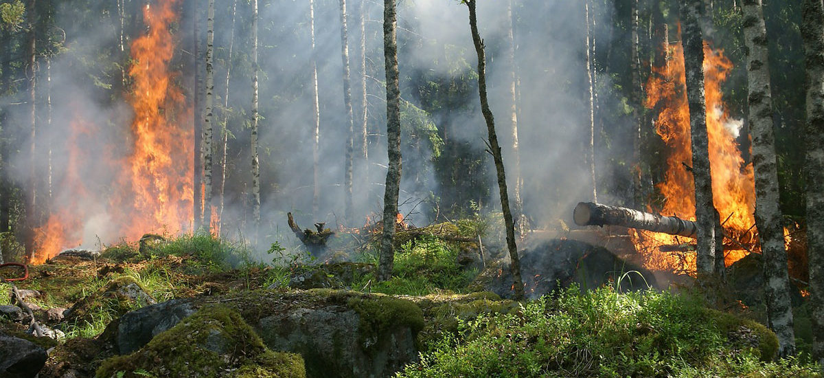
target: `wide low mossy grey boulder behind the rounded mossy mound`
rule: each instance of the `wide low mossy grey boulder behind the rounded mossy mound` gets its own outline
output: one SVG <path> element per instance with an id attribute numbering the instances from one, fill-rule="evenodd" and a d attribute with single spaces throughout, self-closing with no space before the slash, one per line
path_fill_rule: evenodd
<path id="1" fill-rule="evenodd" d="M 310 377 L 391 376 L 418 358 L 421 309 L 410 300 L 354 291 L 250 291 L 171 300 L 125 314 L 121 354 L 133 352 L 186 315 L 212 304 L 241 314 L 272 350 L 302 355 Z"/>

